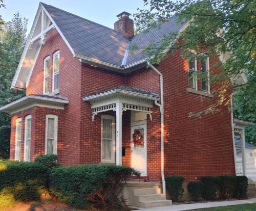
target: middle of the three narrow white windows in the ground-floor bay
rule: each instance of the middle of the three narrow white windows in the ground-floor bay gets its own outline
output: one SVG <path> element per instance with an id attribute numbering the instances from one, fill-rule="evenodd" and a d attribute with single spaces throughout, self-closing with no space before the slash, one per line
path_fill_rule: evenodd
<path id="1" fill-rule="evenodd" d="M 24 161 L 30 161 L 31 115 L 25 118 Z"/>

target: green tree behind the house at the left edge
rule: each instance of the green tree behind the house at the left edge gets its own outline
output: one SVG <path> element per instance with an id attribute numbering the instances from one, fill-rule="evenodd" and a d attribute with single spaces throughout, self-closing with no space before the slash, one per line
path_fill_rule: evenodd
<path id="1" fill-rule="evenodd" d="M 25 46 L 27 22 L 17 13 L 11 21 L 4 22 L 0 34 L 0 107 L 25 95 L 10 88 Z M 0 113 L 0 158 L 9 157 L 9 142 L 10 116 Z"/>

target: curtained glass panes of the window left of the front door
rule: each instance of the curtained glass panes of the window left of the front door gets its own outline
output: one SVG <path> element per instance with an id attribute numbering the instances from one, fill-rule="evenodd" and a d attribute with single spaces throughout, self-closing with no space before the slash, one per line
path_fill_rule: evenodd
<path id="1" fill-rule="evenodd" d="M 112 120 L 102 119 L 102 159 L 111 160 L 113 153 Z"/>

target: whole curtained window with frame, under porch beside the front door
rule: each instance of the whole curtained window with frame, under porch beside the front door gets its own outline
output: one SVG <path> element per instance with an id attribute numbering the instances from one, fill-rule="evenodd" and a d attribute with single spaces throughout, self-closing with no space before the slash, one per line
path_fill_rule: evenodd
<path id="1" fill-rule="evenodd" d="M 115 163 L 115 117 L 101 115 L 101 162 Z"/>

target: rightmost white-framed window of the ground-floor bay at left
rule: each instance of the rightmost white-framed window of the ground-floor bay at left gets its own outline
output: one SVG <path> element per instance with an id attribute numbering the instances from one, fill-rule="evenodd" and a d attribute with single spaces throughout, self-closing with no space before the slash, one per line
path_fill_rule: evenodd
<path id="1" fill-rule="evenodd" d="M 57 154 L 58 117 L 46 115 L 46 154 Z"/>

